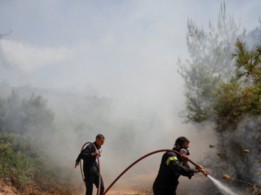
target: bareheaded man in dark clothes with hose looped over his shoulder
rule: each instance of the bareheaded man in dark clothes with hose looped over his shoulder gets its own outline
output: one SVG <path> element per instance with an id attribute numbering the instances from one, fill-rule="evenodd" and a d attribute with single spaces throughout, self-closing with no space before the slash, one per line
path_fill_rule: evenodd
<path id="1" fill-rule="evenodd" d="M 83 159 L 83 171 L 84 171 L 84 181 L 86 184 L 86 195 L 92 195 L 93 184 L 95 184 L 96 188 L 99 188 L 99 166 L 96 162 L 97 156 L 101 152 L 101 146 L 104 143 L 104 136 L 102 134 L 98 134 L 96 136 L 96 140 L 94 145 L 96 146 L 97 150 L 92 144 L 89 144 L 86 148 L 84 148 L 81 153 L 79 154 L 78 158 L 75 162 L 75 168 L 79 165 L 81 159 Z M 103 179 L 101 178 L 101 185 L 100 185 L 100 194 L 102 195 L 104 192 L 104 185 Z M 98 192 L 97 192 L 98 195 Z"/>

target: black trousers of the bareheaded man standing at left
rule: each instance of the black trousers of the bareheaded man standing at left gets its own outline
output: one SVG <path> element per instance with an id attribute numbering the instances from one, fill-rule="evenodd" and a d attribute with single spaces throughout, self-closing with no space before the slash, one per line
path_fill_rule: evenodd
<path id="1" fill-rule="evenodd" d="M 92 195 L 93 184 L 97 188 L 97 195 L 103 195 L 104 192 L 104 184 L 103 179 L 101 177 L 101 187 L 100 187 L 100 194 L 98 194 L 99 188 L 99 173 L 84 173 L 84 181 L 86 184 L 86 193 L 85 195 Z"/>

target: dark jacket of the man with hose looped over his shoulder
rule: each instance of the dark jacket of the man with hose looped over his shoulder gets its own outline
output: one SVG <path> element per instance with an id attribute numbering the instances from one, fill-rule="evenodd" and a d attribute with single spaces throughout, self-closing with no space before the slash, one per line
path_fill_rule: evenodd
<path id="1" fill-rule="evenodd" d="M 99 150 L 101 147 L 97 145 L 96 142 L 93 142 L 96 146 L 97 150 Z M 83 159 L 83 171 L 85 174 L 87 173 L 99 173 L 99 166 L 96 162 L 97 156 L 92 156 L 91 154 L 95 152 L 95 148 L 92 144 L 89 144 L 84 148 L 81 153 L 79 154 L 78 158 L 76 159 L 77 162 L 80 162 L 80 159 Z"/>

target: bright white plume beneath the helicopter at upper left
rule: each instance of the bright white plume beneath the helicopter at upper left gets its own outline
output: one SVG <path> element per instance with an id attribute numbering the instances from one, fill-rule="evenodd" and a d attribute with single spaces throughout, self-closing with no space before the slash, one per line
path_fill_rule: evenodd
<path id="1" fill-rule="evenodd" d="M 13 40 L 0 40 L 0 52 L 6 68 L 15 68 L 22 75 L 32 75 L 41 67 L 54 65 L 70 58 L 66 47 L 36 47 Z"/>

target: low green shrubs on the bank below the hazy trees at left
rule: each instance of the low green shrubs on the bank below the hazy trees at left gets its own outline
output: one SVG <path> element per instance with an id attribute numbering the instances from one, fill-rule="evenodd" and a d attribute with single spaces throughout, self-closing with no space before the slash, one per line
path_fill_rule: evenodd
<path id="1" fill-rule="evenodd" d="M 49 190 L 58 191 L 56 194 L 71 193 L 70 170 L 54 165 L 49 159 L 39 144 L 29 142 L 28 137 L 0 133 L 0 178 L 12 182 L 19 190 L 28 193 Z"/>

